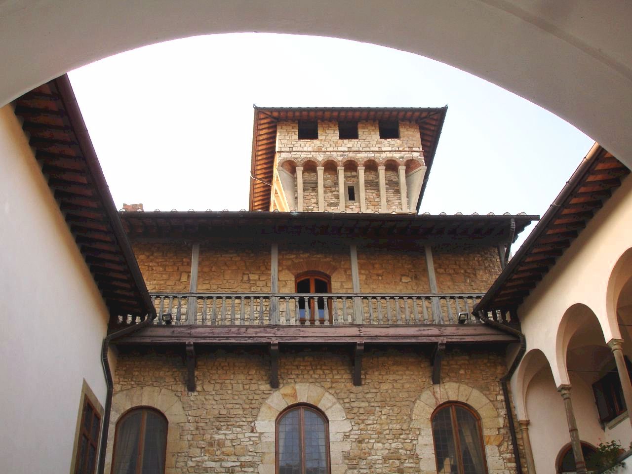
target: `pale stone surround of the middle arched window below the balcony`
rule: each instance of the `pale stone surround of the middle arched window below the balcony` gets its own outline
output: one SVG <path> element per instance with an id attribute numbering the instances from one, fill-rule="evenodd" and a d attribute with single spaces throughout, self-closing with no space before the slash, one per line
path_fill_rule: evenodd
<path id="1" fill-rule="evenodd" d="M 277 417 L 289 406 L 312 405 L 322 411 L 329 421 L 329 457 L 331 473 L 346 472 L 343 451 L 349 451 L 351 444 L 345 441 L 345 434 L 351 431 L 351 422 L 344 409 L 331 393 L 316 384 L 288 384 L 272 392 L 259 410 L 255 421 L 255 431 L 260 434 L 260 442 L 255 453 L 261 456 L 258 465 L 260 474 L 273 474 L 276 466 L 276 422 Z"/>

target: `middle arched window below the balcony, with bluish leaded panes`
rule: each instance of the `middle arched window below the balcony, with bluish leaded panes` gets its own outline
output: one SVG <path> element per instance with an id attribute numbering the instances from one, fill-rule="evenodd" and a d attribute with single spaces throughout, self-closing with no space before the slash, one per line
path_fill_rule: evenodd
<path id="1" fill-rule="evenodd" d="M 296 405 L 276 422 L 277 474 L 329 474 L 329 424 L 311 406 Z"/>

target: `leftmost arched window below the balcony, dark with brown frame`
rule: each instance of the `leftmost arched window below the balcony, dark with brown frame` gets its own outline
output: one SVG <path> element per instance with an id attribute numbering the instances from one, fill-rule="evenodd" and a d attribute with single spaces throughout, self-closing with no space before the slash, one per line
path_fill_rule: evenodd
<path id="1" fill-rule="evenodd" d="M 161 474 L 167 449 L 167 418 L 135 408 L 116 423 L 112 474 Z"/>

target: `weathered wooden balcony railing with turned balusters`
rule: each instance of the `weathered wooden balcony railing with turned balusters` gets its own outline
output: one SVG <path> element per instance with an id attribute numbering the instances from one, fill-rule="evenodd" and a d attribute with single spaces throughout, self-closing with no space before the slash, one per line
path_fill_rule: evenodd
<path id="1" fill-rule="evenodd" d="M 154 324 L 477 324 L 483 293 L 152 293 Z M 463 313 L 466 313 L 464 315 Z M 500 317 L 499 317 L 500 319 Z"/>

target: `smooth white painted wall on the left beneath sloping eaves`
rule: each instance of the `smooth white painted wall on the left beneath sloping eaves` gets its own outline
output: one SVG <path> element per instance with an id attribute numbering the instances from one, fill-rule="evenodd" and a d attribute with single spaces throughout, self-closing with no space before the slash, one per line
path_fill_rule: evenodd
<path id="1" fill-rule="evenodd" d="M 0 109 L 0 472 L 70 472 L 107 308 L 10 106 Z"/>

